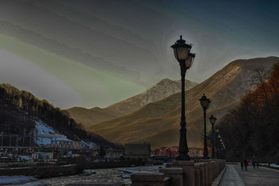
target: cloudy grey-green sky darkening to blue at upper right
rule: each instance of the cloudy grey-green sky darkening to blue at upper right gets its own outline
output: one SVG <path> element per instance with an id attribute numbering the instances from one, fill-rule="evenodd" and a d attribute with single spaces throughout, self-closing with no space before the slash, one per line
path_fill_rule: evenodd
<path id="1" fill-rule="evenodd" d="M 170 48 L 197 53 L 200 83 L 229 62 L 279 56 L 278 1 L 0 1 L 0 83 L 63 109 L 104 108 L 163 78 L 179 80 Z"/>

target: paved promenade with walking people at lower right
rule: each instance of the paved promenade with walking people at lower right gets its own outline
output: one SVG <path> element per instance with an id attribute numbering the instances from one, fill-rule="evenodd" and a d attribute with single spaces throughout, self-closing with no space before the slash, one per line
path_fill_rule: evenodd
<path id="1" fill-rule="evenodd" d="M 239 164 L 227 164 L 227 169 L 220 182 L 220 186 L 278 186 L 279 171 L 266 167 L 254 170 L 248 167 L 248 171 L 241 171 Z"/>

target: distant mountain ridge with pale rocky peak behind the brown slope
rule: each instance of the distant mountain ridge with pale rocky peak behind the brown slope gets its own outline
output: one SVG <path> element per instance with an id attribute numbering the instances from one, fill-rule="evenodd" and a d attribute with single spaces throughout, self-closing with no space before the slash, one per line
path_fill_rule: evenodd
<path id="1" fill-rule="evenodd" d="M 186 90 L 195 87 L 197 83 L 191 81 L 186 81 Z M 142 94 L 137 94 L 129 99 L 120 101 L 110 105 L 107 108 L 69 108 L 66 110 L 70 117 L 73 117 L 77 122 L 84 124 L 85 128 L 89 128 L 93 124 L 100 123 L 102 121 L 114 119 L 116 117 L 121 117 L 123 115 L 128 115 L 136 110 L 139 110 L 144 105 L 148 103 L 153 103 L 161 99 L 165 99 L 176 92 L 181 91 L 181 82 L 172 81 L 165 78 L 156 85 L 143 92 Z"/>

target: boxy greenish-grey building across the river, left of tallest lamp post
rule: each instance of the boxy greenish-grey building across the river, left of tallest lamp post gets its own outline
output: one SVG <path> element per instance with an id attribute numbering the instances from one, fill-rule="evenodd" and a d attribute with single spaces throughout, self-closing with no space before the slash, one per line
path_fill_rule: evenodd
<path id="1" fill-rule="evenodd" d="M 126 158 L 142 160 L 150 159 L 151 146 L 149 143 L 128 143 L 125 144 Z"/>

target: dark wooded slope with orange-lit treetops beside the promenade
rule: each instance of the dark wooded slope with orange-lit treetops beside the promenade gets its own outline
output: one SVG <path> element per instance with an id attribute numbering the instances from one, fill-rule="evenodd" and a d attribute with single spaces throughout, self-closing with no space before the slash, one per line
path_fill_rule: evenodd
<path id="1" fill-rule="evenodd" d="M 227 160 L 279 160 L 279 62 L 256 72 L 251 83 L 257 87 L 219 122 Z"/>

